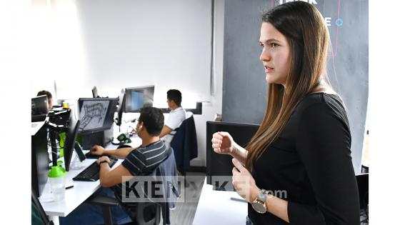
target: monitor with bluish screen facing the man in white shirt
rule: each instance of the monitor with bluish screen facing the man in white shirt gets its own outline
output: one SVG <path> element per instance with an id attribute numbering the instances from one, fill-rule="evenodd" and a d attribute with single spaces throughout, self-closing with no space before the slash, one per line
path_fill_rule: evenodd
<path id="1" fill-rule="evenodd" d="M 153 106 L 154 86 L 125 89 L 125 112 L 140 112 L 146 106 Z"/>

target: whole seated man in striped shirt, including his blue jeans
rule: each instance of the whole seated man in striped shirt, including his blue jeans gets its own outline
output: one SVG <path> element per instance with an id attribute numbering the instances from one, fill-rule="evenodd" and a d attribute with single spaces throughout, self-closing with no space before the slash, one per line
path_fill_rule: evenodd
<path id="1" fill-rule="evenodd" d="M 101 146 L 93 146 L 91 154 L 101 156 L 97 160 L 100 166 L 101 194 L 115 197 L 121 201 L 122 176 L 144 176 L 156 169 L 168 157 L 168 151 L 159 134 L 164 124 L 164 115 L 161 109 L 145 107 L 141 109 L 136 133 L 141 138 L 142 144 L 136 149 L 121 148 L 105 150 Z M 121 165 L 111 170 L 108 156 L 123 158 Z M 126 178 L 126 177 L 125 177 Z M 109 189 L 113 187 L 113 189 Z M 114 224 L 124 224 L 131 221 L 122 206 L 111 207 Z M 66 217 L 60 217 L 60 224 L 104 224 L 101 206 L 81 204 Z"/>

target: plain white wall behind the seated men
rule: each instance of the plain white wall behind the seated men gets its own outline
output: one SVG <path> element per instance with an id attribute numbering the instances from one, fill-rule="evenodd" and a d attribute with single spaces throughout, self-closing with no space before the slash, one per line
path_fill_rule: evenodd
<path id="1" fill-rule="evenodd" d="M 50 65 L 41 66 L 47 76 L 31 84 L 32 95 L 39 89 L 54 93 L 53 80 L 58 99 L 90 97 L 93 86 L 100 96 L 116 97 L 126 87 L 154 85 L 154 106 L 166 108 L 166 91 L 179 89 L 185 108 L 206 101 L 203 114 L 194 117 L 199 157 L 192 161 L 205 166 L 206 121 L 221 114 L 224 1 L 215 6 L 213 96 L 210 0 L 51 2 L 44 16 L 54 22 L 44 19 L 40 26 L 56 40 L 35 34 L 51 39 L 52 49 L 46 49 Z"/>

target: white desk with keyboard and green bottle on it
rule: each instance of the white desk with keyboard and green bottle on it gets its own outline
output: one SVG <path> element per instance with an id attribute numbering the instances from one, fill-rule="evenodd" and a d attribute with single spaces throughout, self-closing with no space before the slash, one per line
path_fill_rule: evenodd
<path id="1" fill-rule="evenodd" d="M 135 137 L 132 139 L 132 146 L 139 146 L 141 144 L 141 139 L 139 137 Z M 116 149 L 115 145 L 108 145 L 106 149 Z M 74 152 L 75 154 L 75 152 Z M 73 158 L 74 159 L 74 156 Z M 91 196 L 97 189 L 100 188 L 100 181 L 72 181 L 72 179 L 78 175 L 81 171 L 86 169 L 87 166 L 92 164 L 96 159 L 85 159 L 82 162 L 79 162 L 77 165 L 81 165 L 80 169 L 69 169 L 66 173 L 66 186 L 69 184 L 74 185 L 71 189 L 65 190 L 65 198 L 62 201 L 52 201 L 51 188 L 49 180 L 44 186 L 43 192 L 39 198 L 41 206 L 43 206 L 44 211 L 46 212 L 49 219 L 51 219 L 54 224 L 59 224 L 59 216 L 68 216 L 71 211 L 74 211 L 76 207 L 82 204 L 86 199 Z M 119 159 L 116 164 L 112 167 L 112 169 L 116 168 L 121 164 L 123 160 Z"/>

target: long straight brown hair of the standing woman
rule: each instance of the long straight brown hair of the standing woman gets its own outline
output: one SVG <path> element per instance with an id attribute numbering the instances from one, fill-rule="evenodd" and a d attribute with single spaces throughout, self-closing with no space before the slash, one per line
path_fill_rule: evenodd
<path id="1" fill-rule="evenodd" d="M 262 21 L 274 26 L 288 40 L 290 66 L 285 87 L 281 84 L 267 86 L 264 119 L 246 146 L 249 169 L 279 137 L 299 101 L 324 81 L 330 43 L 321 13 L 304 1 L 276 6 L 263 14 Z"/>

